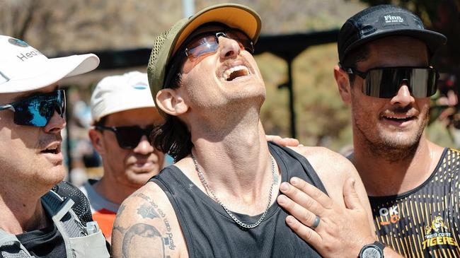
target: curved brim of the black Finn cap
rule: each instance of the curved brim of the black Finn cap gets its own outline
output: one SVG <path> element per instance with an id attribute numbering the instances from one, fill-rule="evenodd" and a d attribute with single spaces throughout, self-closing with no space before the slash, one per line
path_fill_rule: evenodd
<path id="1" fill-rule="evenodd" d="M 384 31 L 381 33 L 376 33 L 372 36 L 365 37 L 362 40 L 357 40 L 352 45 L 348 46 L 345 49 L 343 57 L 346 57 L 347 54 L 357 47 L 364 45 L 365 43 L 379 40 L 382 37 L 389 37 L 389 36 L 408 36 L 408 37 L 415 37 L 422 42 L 425 42 L 427 47 L 430 49 L 430 52 L 433 54 L 436 50 L 441 47 L 442 45 L 446 44 L 447 37 L 442 35 L 441 33 L 437 33 L 432 30 L 393 30 L 393 31 Z"/>

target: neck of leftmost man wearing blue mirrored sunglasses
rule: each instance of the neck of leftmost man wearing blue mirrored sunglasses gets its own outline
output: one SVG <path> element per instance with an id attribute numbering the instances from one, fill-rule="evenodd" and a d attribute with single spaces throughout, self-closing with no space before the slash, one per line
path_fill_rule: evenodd
<path id="1" fill-rule="evenodd" d="M 49 220 L 41 204 L 40 195 L 34 197 L 28 192 L 29 195 L 25 196 L 11 191 L 11 188 L 14 187 L 4 188 L 8 189 L 8 192 L 0 192 L 0 228 L 14 235 L 46 228 Z"/>

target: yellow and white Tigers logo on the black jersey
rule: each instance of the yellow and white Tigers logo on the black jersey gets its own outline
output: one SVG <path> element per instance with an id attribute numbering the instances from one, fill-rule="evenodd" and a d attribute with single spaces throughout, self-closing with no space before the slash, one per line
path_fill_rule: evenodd
<path id="1" fill-rule="evenodd" d="M 433 247 L 435 245 L 453 245 L 458 246 L 455 239 L 452 238 L 452 233 L 444 224 L 444 218 L 436 216 L 431 225 L 425 227 L 425 240 L 423 240 L 423 249 Z"/>

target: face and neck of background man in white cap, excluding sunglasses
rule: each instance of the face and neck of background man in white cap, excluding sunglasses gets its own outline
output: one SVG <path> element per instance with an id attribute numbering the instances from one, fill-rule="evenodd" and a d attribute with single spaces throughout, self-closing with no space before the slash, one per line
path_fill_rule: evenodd
<path id="1" fill-rule="evenodd" d="M 105 126 L 139 125 L 145 128 L 161 122 L 162 118 L 154 107 L 142 107 L 108 115 Z M 163 168 L 164 154 L 151 146 L 146 136 L 142 136 L 136 148 L 125 149 L 120 148 L 113 131 L 91 129 L 89 135 L 93 146 L 102 156 L 104 168 L 103 177 L 94 187 L 96 192 L 115 204 L 121 204 Z M 113 187 L 115 185 L 117 187 Z"/>

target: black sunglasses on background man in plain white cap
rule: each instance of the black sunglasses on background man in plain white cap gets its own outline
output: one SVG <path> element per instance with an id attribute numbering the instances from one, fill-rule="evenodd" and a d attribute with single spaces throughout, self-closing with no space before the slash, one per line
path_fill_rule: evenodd
<path id="1" fill-rule="evenodd" d="M 141 128 L 137 125 L 131 127 L 105 127 L 102 125 L 96 125 L 96 129 L 103 131 L 113 131 L 117 137 L 118 146 L 120 148 L 133 149 L 139 145 L 142 136 L 149 138 L 151 131 L 155 126 L 153 124 L 148 125 L 146 128 Z"/>

